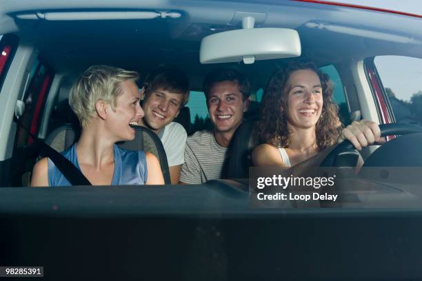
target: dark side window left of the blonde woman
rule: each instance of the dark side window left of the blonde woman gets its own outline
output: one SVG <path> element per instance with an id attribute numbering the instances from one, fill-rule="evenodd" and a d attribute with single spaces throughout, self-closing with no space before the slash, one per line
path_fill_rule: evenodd
<path id="1" fill-rule="evenodd" d="M 39 121 L 41 121 L 44 103 L 46 102 L 53 76 L 54 73 L 39 61 L 32 66 L 30 85 L 23 96 L 25 112 L 23 112 L 19 122 L 34 135 L 38 134 Z M 29 136 L 26 129 L 21 127 L 18 129 L 17 147 L 32 144 L 32 137 Z"/>

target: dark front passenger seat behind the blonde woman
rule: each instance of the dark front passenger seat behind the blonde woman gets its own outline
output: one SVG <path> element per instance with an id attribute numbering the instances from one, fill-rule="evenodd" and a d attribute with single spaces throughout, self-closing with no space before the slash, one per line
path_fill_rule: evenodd
<path id="1" fill-rule="evenodd" d="M 134 128 L 135 138 L 132 141 L 117 143 L 117 145 L 128 150 L 143 150 L 145 152 L 151 152 L 157 156 L 160 162 L 161 171 L 163 171 L 164 183 L 166 185 L 170 185 L 170 171 L 168 169 L 167 156 L 165 155 L 163 143 L 161 143 L 157 134 L 147 127 L 136 126 Z M 45 143 L 56 149 L 57 152 L 63 152 L 63 150 L 68 149 L 71 145 L 77 142 L 80 132 L 81 130 L 79 125 L 62 125 L 48 134 Z"/>

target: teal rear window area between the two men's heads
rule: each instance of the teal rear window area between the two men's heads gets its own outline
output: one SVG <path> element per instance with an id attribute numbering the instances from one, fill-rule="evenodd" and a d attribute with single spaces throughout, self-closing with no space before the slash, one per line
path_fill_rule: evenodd
<path id="1" fill-rule="evenodd" d="M 203 129 L 212 128 L 210 116 L 208 116 L 205 94 L 203 92 L 190 91 L 189 101 L 185 106 L 189 107 L 192 134 Z"/>

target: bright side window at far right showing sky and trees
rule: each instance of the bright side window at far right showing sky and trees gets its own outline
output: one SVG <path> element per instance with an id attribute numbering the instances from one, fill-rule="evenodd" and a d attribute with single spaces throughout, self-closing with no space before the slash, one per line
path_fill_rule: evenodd
<path id="1" fill-rule="evenodd" d="M 374 64 L 396 122 L 422 125 L 422 59 L 376 56 Z"/>

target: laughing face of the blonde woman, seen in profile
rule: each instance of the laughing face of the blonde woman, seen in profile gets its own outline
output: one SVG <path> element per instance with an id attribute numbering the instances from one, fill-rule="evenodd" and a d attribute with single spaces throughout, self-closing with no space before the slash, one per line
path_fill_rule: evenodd
<path id="1" fill-rule="evenodd" d="M 134 139 L 135 130 L 130 125 L 137 125 L 143 117 L 143 110 L 139 104 L 140 94 L 137 84 L 133 81 L 120 83 L 121 94 L 116 99 L 114 110 L 110 109 L 108 127 L 117 136 L 118 141 L 130 141 Z"/>

